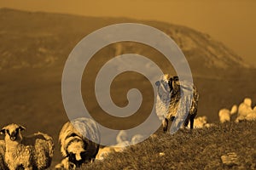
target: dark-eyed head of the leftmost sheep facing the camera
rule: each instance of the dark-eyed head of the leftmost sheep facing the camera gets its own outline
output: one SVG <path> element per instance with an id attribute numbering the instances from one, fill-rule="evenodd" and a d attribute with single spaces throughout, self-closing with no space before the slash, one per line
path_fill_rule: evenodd
<path id="1" fill-rule="evenodd" d="M 0 132 L 5 134 L 5 139 L 10 139 L 11 141 L 20 141 L 22 139 L 20 131 L 22 130 L 25 130 L 25 127 L 12 123 L 6 127 L 3 127 Z"/>

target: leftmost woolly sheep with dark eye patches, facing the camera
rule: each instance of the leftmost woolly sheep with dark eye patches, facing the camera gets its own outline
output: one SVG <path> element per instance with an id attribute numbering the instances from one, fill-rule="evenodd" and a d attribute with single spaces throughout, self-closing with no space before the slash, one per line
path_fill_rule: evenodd
<path id="1" fill-rule="evenodd" d="M 25 127 L 12 123 L 0 131 L 5 134 L 4 159 L 9 170 L 21 167 L 26 170 L 46 169 L 50 166 L 54 152 L 53 139 L 39 132 L 23 137 L 23 130 Z"/>

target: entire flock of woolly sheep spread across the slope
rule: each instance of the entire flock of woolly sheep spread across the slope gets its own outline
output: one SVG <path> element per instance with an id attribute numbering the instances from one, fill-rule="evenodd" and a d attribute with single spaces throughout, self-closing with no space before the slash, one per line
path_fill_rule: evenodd
<path id="1" fill-rule="evenodd" d="M 169 121 L 176 121 L 176 124 L 172 124 L 175 124 L 177 129 L 181 124 L 190 129 L 212 126 L 207 123 L 206 116 L 195 118 L 199 94 L 192 83 L 180 81 L 178 77 L 163 75 L 155 85 L 158 89 L 155 112 L 162 121 L 164 132 L 167 131 Z M 244 99 L 239 107 L 234 105 L 231 111 L 219 111 L 220 122 L 229 122 L 230 116 L 236 112 L 236 122 L 245 119 L 256 120 L 256 106 L 252 109 L 252 100 Z M 5 135 L 4 140 L 0 140 L 0 169 L 41 170 L 50 166 L 55 150 L 53 139 L 48 134 L 40 132 L 22 136 L 21 132 L 24 129 L 25 127 L 12 123 L 0 131 Z M 75 169 L 83 163 L 95 159 L 102 160 L 109 152 L 122 151 L 126 145 L 137 144 L 140 139 L 143 139 L 143 136 L 137 134 L 130 141 L 125 131 L 120 131 L 116 145 L 100 149 L 100 132 L 96 122 L 85 117 L 74 119 L 61 128 L 59 141 L 63 159 L 55 168 Z"/>

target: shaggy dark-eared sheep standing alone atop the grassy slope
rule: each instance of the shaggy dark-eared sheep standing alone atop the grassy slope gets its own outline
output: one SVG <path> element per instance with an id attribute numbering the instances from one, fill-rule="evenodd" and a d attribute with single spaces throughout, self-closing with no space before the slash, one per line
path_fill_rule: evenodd
<path id="1" fill-rule="evenodd" d="M 190 122 L 190 129 L 193 129 L 199 100 L 195 86 L 190 82 L 179 81 L 178 77 L 170 77 L 168 74 L 161 76 L 155 85 L 158 88 L 155 110 L 162 120 L 163 131 L 167 131 L 170 120 L 175 122 L 175 129 L 171 129 L 171 133 L 177 131 L 181 122 L 184 122 L 184 127 L 187 127 Z M 188 105 L 190 105 L 189 108 Z"/>

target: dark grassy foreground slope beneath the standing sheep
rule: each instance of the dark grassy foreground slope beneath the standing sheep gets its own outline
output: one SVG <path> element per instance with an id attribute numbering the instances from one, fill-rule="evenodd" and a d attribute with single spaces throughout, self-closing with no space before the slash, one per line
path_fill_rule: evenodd
<path id="1" fill-rule="evenodd" d="M 104 161 L 80 169 L 255 169 L 256 122 L 229 122 L 216 127 L 158 132 L 157 138 L 113 153 Z M 160 155 L 163 152 L 164 155 Z M 221 156 L 235 152 L 237 161 L 227 166 Z"/>

